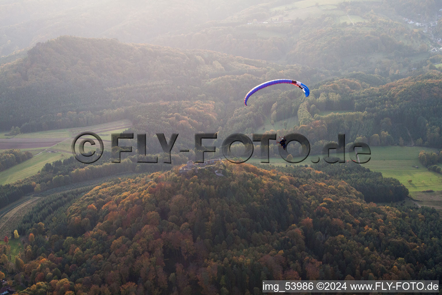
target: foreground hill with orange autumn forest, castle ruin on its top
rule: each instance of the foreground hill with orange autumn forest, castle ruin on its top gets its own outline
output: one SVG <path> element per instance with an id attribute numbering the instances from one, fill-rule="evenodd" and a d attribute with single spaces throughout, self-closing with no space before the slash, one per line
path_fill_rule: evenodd
<path id="1" fill-rule="evenodd" d="M 170 171 L 102 184 L 35 224 L 15 259 L 35 284 L 26 294 L 254 294 L 262 280 L 441 279 L 438 212 L 365 203 L 311 168 L 224 165 L 225 176 Z"/>

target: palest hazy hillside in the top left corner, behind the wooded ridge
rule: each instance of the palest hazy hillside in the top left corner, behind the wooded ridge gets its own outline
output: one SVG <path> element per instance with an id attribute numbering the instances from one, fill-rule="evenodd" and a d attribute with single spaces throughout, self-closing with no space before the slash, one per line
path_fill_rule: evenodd
<path id="1" fill-rule="evenodd" d="M 222 20 L 261 1 L 6 1 L 0 4 L 0 56 L 60 35 L 149 42 L 158 34 Z"/>

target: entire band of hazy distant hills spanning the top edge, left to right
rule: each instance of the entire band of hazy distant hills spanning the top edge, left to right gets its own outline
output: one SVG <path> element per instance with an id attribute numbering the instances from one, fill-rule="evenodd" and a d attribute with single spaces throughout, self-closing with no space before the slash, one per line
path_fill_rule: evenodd
<path id="1" fill-rule="evenodd" d="M 435 21 L 439 8 L 441 0 L 19 0 L 0 4 L 0 56 L 69 34 L 374 71 L 383 68 L 377 67 L 379 60 L 394 60 L 390 67 L 397 67 L 404 63 L 398 56 L 427 51 L 430 41 L 423 28 L 408 26 L 402 18 Z M 362 53 L 363 58 L 354 56 Z"/>

